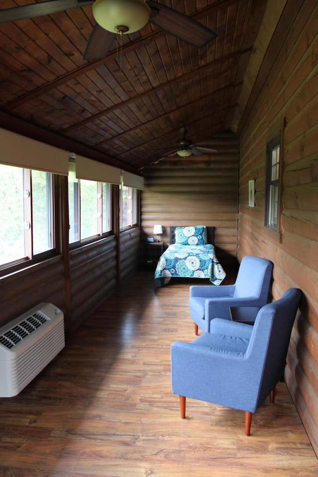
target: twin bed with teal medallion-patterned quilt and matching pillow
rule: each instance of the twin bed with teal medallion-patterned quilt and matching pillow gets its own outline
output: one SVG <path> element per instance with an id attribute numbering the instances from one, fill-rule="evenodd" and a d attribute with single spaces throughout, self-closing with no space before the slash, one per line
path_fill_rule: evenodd
<path id="1" fill-rule="evenodd" d="M 157 287 L 172 277 L 209 278 L 214 285 L 220 285 L 225 276 L 215 254 L 214 227 L 170 227 L 170 245 L 155 272 Z"/>

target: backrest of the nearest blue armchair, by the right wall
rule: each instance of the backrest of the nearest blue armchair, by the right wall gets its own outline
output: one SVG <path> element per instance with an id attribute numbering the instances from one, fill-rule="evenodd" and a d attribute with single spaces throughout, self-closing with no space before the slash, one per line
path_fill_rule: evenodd
<path id="1" fill-rule="evenodd" d="M 280 300 L 265 305 L 255 319 L 246 350 L 260 378 L 257 406 L 283 377 L 293 324 L 301 301 L 298 288 L 287 290 Z M 252 373 L 253 374 L 253 373 Z"/>

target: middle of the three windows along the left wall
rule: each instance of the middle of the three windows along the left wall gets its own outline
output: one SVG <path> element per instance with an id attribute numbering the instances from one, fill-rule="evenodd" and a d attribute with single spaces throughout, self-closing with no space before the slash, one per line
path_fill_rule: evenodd
<path id="1" fill-rule="evenodd" d="M 110 185 L 77 179 L 69 173 L 69 242 L 100 237 L 110 231 Z"/>

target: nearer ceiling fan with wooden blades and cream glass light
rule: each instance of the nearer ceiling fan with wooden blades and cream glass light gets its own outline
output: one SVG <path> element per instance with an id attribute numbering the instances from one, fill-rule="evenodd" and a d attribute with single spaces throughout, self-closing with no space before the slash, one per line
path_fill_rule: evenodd
<path id="1" fill-rule="evenodd" d="M 116 34 L 133 33 L 148 21 L 180 40 L 201 48 L 217 35 L 187 15 L 153 0 L 47 0 L 0 10 L 0 23 L 49 15 L 91 5 L 96 25 L 89 37 L 83 59 L 107 56 Z"/>

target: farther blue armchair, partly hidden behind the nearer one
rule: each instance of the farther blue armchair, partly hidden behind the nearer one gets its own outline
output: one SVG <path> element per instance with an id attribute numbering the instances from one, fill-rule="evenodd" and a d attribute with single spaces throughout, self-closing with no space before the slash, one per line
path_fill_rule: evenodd
<path id="1" fill-rule="evenodd" d="M 209 332 L 214 318 L 231 319 L 230 307 L 244 307 L 245 320 L 254 321 L 267 303 L 272 270 L 269 260 L 247 255 L 242 258 L 234 285 L 191 286 L 189 307 L 194 333 L 198 334 L 198 326 Z"/>

